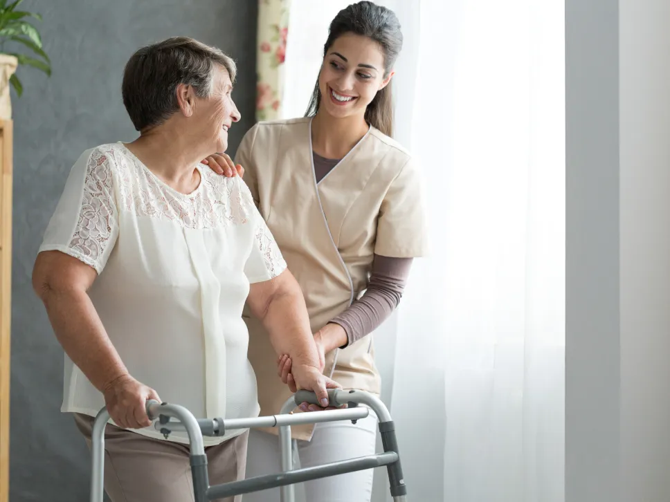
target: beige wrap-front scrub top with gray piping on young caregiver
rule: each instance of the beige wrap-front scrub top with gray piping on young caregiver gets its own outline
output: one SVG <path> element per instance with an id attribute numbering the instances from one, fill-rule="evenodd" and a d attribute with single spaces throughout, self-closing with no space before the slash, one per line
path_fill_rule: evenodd
<path id="1" fill-rule="evenodd" d="M 374 254 L 422 257 L 428 232 L 415 161 L 378 129 L 370 127 L 318 184 L 313 158 L 311 118 L 298 118 L 255 124 L 235 163 L 244 167 L 254 201 L 300 283 L 316 333 L 363 295 Z M 278 357 L 260 321 L 248 309 L 243 317 L 261 414 L 279 413 L 291 392 L 277 375 Z M 379 394 L 372 335 L 327 353 L 324 373 L 344 389 Z M 311 439 L 313 431 L 313 425 L 292 427 L 298 439 Z"/>

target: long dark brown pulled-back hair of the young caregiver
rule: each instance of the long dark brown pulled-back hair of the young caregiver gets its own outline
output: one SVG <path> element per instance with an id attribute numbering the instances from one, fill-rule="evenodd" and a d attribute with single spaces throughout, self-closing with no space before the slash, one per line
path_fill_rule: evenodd
<path id="1" fill-rule="evenodd" d="M 381 46 L 384 52 L 384 78 L 388 77 L 402 49 L 403 42 L 400 21 L 398 21 L 395 13 L 371 1 L 353 3 L 341 10 L 330 24 L 328 39 L 323 46 L 323 57 L 327 55 L 334 41 L 346 33 L 368 37 Z M 317 79 L 305 116 L 316 115 L 320 102 L 321 91 Z M 381 91 L 378 91 L 372 102 L 368 104 L 368 109 L 365 110 L 365 122 L 376 127 L 387 136 L 392 136 L 393 100 L 391 82 Z"/>

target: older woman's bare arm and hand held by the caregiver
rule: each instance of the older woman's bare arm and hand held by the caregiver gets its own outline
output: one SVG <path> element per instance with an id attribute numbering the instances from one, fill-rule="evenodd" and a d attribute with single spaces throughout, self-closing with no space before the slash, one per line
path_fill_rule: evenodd
<path id="1" fill-rule="evenodd" d="M 326 388 L 338 385 L 321 373 L 323 361 L 309 326 L 305 299 L 295 277 L 284 270 L 269 281 L 252 283 L 247 304 L 261 320 L 278 355 L 288 354 L 298 387 L 315 391 L 319 400 L 326 398 Z"/>

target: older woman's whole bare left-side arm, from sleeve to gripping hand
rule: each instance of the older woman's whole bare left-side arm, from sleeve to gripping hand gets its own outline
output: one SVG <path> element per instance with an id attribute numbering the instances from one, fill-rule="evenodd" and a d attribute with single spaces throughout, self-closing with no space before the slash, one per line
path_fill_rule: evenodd
<path id="1" fill-rule="evenodd" d="M 53 331 L 65 353 L 98 391 L 120 427 L 147 427 L 147 399 L 160 401 L 153 389 L 131 375 L 111 344 L 88 295 L 97 272 L 60 251 L 37 255 L 33 289 L 46 307 Z"/>

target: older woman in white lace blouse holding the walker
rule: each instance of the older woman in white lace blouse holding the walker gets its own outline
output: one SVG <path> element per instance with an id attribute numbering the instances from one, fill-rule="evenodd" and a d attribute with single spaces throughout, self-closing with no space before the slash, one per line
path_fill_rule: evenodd
<path id="1" fill-rule="evenodd" d="M 188 440 L 149 427 L 148 399 L 202 418 L 259 413 L 245 302 L 277 354 L 291 356 L 300 387 L 326 402 L 336 387 L 248 188 L 199 165 L 228 147 L 239 120 L 234 80 L 233 61 L 193 39 L 138 50 L 123 102 L 139 137 L 84 151 L 35 263 L 35 291 L 66 354 L 62 411 L 89 444 L 93 417 L 110 411 L 105 488 L 114 502 L 192 499 Z M 206 439 L 212 484 L 244 477 L 247 436 Z"/>

